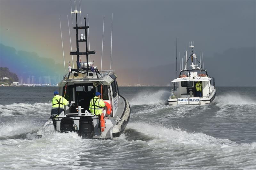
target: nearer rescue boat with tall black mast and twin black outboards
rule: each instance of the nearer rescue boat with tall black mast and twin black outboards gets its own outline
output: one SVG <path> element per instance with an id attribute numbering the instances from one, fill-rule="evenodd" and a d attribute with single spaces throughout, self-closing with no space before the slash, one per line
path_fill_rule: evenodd
<path id="1" fill-rule="evenodd" d="M 71 51 L 70 55 L 77 56 L 77 69 L 72 69 L 69 64 L 69 72 L 64 75 L 62 81 L 58 83 L 59 94 L 66 98 L 70 104 L 65 106 L 65 112 L 61 112 L 56 117 L 49 119 L 37 132 L 38 137 L 54 131 L 67 133 L 76 132 L 82 138 L 114 139 L 119 137 L 124 131 L 130 119 L 130 105 L 128 101 L 120 95 L 117 75 L 115 70 L 98 70 L 94 62 L 88 62 L 88 55 L 95 54 L 87 48 L 86 18 L 85 26 L 77 25 L 76 15 L 76 51 Z M 78 37 L 78 32 L 84 32 Z M 85 52 L 80 52 L 85 42 Z M 86 62 L 81 62 L 81 55 L 86 55 Z M 101 93 L 101 99 L 105 102 L 105 109 L 100 116 L 95 116 L 89 110 L 90 100 L 96 92 Z"/>

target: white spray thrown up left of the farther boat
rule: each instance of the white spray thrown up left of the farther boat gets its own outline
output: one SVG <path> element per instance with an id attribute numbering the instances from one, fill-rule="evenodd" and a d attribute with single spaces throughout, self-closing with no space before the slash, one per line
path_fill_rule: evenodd
<path id="1" fill-rule="evenodd" d="M 142 104 L 155 104 L 155 105 L 166 105 L 170 91 L 158 90 L 158 91 L 141 91 L 131 100 L 131 105 L 142 105 Z"/>

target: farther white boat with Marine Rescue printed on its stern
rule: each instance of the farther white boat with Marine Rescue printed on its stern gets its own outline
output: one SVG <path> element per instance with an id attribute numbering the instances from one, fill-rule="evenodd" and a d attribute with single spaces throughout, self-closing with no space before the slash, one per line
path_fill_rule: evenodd
<path id="1" fill-rule="evenodd" d="M 197 59 L 194 53 L 194 46 L 189 45 L 191 55 L 188 58 L 186 50 L 185 69 L 180 69 L 179 76 L 172 80 L 172 91 L 168 99 L 168 104 L 176 106 L 183 105 L 204 105 L 210 104 L 215 98 L 216 88 L 215 79 L 210 77 L 207 73 L 207 69 L 201 64 L 201 51 L 200 61 Z M 203 52 L 203 51 L 202 51 Z M 202 53 L 203 57 L 203 53 Z M 189 62 L 191 58 L 191 62 Z M 204 61 L 204 60 L 203 60 Z M 197 63 L 196 63 L 197 62 Z M 183 62 L 182 62 L 183 63 Z M 188 64 L 190 63 L 189 67 Z M 199 86 L 197 85 L 199 82 Z M 201 91 L 201 94 L 197 91 Z"/>

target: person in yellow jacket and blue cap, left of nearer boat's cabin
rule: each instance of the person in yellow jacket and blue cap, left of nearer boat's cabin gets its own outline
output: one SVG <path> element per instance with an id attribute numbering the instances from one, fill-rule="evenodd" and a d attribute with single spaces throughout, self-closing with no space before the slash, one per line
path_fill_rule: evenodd
<path id="1" fill-rule="evenodd" d="M 54 97 L 52 98 L 52 112 L 51 116 L 59 115 L 61 112 L 65 112 L 64 105 L 68 105 L 69 102 L 64 97 L 58 95 L 58 91 L 54 91 Z"/>

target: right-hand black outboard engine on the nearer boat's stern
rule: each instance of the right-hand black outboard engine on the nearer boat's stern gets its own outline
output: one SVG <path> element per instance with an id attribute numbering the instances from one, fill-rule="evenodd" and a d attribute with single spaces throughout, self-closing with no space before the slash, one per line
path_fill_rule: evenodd
<path id="1" fill-rule="evenodd" d="M 82 116 L 79 120 L 79 131 L 78 135 L 82 136 L 82 138 L 90 138 L 94 134 L 93 128 L 93 120 L 91 116 Z"/>

